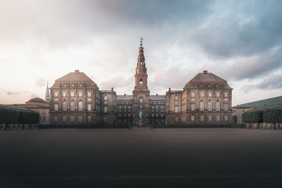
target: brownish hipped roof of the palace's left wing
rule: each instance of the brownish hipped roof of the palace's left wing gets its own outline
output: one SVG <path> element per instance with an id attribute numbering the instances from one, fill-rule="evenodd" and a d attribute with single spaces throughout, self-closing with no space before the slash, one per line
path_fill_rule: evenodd
<path id="1" fill-rule="evenodd" d="M 95 84 L 95 82 L 93 82 L 90 77 L 85 75 L 85 73 L 81 73 L 79 72 L 79 70 L 75 70 L 74 73 L 68 73 L 67 75 L 64 75 L 63 77 L 55 80 L 55 83 L 52 87 L 50 87 L 50 89 L 59 88 L 61 84 L 67 82 L 83 83 L 88 88 L 97 86 L 97 84 Z"/>

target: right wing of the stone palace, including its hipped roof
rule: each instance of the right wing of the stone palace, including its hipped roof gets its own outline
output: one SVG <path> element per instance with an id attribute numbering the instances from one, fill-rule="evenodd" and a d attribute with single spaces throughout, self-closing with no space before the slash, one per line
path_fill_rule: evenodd
<path id="1" fill-rule="evenodd" d="M 166 124 L 231 124 L 232 88 L 226 80 L 198 73 L 183 90 L 166 92 Z"/>

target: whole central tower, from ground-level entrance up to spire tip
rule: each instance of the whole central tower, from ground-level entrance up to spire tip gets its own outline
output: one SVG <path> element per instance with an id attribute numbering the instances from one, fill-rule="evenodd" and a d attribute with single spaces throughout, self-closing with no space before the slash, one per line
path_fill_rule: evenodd
<path id="1" fill-rule="evenodd" d="M 142 125 L 149 124 L 149 90 L 147 85 L 147 68 L 143 51 L 142 37 L 140 38 L 137 67 L 135 68 L 135 87 L 133 90 L 133 125 L 140 122 L 140 112 L 144 114 Z"/>

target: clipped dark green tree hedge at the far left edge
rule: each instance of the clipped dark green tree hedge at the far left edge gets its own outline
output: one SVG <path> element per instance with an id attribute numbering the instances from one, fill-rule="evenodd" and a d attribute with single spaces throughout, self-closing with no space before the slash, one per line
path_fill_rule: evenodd
<path id="1" fill-rule="evenodd" d="M 34 111 L 0 108 L 0 124 L 37 124 L 39 120 L 39 113 Z"/>

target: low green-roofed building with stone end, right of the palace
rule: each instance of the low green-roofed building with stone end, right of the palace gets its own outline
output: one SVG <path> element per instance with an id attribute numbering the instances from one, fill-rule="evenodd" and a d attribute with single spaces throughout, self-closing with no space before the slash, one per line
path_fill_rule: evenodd
<path id="1" fill-rule="evenodd" d="M 264 110 L 266 108 L 282 108 L 282 96 L 233 106 L 233 123 L 242 124 L 242 114 L 246 111 Z"/>

